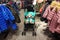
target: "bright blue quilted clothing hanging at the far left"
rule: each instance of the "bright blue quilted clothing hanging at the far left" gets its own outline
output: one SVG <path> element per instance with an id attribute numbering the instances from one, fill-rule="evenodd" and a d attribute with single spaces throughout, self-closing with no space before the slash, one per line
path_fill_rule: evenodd
<path id="1" fill-rule="evenodd" d="M 17 25 L 13 23 L 14 20 L 12 12 L 5 5 L 0 5 L 0 32 L 7 30 L 8 26 L 16 30 Z"/>

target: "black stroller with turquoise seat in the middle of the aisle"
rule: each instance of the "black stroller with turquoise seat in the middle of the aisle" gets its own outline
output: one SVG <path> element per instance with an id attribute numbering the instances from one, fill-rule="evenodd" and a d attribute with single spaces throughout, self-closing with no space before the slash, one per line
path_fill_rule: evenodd
<path id="1" fill-rule="evenodd" d="M 35 15 L 36 11 L 33 9 L 33 6 L 27 6 L 27 10 L 25 10 L 24 13 L 24 31 L 22 32 L 22 35 L 26 35 L 26 31 L 29 29 L 32 30 L 32 35 L 36 36 L 35 32 Z"/>

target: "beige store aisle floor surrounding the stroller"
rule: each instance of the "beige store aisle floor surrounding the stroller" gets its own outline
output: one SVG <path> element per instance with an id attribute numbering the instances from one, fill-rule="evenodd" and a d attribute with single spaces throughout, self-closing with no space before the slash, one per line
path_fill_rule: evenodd
<path id="1" fill-rule="evenodd" d="M 43 29 L 46 29 L 44 25 L 46 23 L 41 22 L 39 17 L 36 17 L 36 26 L 37 26 L 37 36 L 32 36 L 32 32 L 27 32 L 26 36 L 22 36 L 21 33 L 23 31 L 24 27 L 24 11 L 23 9 L 20 11 L 20 18 L 21 18 L 21 23 L 17 24 L 19 26 L 19 31 L 16 34 L 9 34 L 7 37 L 7 40 L 47 40 L 47 36 L 44 35 Z"/>

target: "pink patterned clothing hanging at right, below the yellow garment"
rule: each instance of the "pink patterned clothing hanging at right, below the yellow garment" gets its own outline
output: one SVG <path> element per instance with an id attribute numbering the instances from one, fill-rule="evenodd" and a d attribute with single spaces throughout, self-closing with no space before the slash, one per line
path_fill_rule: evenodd
<path id="1" fill-rule="evenodd" d="M 48 19 L 49 30 L 52 33 L 60 33 L 60 11 L 56 12 L 55 8 L 51 10 L 51 7 L 48 6 L 43 17 Z"/>

